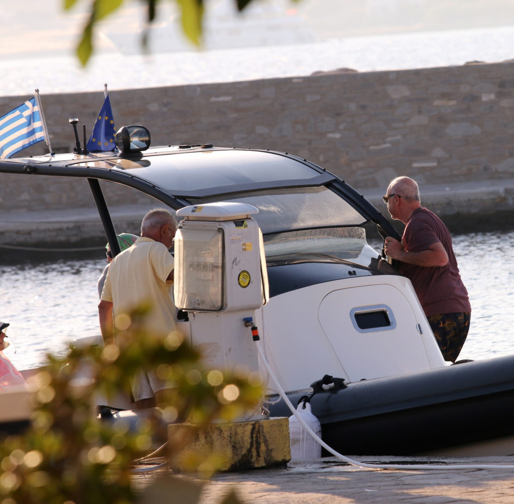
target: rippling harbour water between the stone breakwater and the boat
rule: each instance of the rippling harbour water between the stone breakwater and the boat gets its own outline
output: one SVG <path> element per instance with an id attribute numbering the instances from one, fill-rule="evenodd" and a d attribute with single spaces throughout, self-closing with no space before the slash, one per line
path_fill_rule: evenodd
<path id="1" fill-rule="evenodd" d="M 514 231 L 459 235 L 454 249 L 472 306 L 460 359 L 514 353 Z M 6 355 L 19 369 L 63 355 L 77 337 L 100 334 L 97 280 L 106 262 L 59 260 L 0 266 L 0 320 L 9 322 Z M 16 350 L 16 352 L 15 352 Z"/>

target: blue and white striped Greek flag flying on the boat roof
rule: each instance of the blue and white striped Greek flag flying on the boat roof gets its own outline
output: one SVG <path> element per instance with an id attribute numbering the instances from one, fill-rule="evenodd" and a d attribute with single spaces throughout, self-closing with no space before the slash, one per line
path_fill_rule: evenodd
<path id="1" fill-rule="evenodd" d="M 0 159 L 43 140 L 45 131 L 35 96 L 0 117 Z"/>

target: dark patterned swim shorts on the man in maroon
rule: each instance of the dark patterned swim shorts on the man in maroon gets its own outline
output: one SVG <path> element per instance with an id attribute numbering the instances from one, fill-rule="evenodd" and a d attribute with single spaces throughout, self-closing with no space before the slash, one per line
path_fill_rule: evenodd
<path id="1" fill-rule="evenodd" d="M 427 319 L 444 359 L 455 362 L 468 336 L 471 313 L 443 313 Z"/>

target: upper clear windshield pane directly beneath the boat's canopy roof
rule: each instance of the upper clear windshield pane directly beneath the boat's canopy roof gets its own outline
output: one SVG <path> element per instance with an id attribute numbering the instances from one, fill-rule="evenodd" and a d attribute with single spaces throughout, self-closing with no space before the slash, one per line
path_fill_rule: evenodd
<path id="1" fill-rule="evenodd" d="M 203 199 L 210 203 L 215 199 Z M 364 217 L 326 187 L 280 189 L 247 193 L 223 201 L 248 203 L 259 208 L 252 216 L 264 235 L 306 227 L 359 226 Z"/>

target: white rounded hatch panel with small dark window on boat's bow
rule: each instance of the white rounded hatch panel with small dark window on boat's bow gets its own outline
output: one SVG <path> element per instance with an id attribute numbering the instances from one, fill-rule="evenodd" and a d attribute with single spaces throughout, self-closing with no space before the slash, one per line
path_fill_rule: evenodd
<path id="1" fill-rule="evenodd" d="M 320 325 L 348 378 L 358 381 L 430 367 L 416 327 L 414 298 L 396 286 L 372 281 L 380 277 L 360 278 L 370 284 L 333 290 L 319 306 Z M 381 303 L 384 299 L 387 305 Z M 365 359 L 349 358 L 355 355 Z"/>

